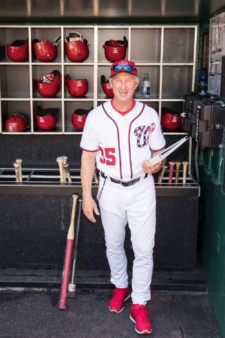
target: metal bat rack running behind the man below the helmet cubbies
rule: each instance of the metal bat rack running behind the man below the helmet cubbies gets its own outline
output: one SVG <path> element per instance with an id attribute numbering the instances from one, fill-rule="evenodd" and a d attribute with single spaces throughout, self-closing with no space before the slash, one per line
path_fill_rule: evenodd
<path id="1" fill-rule="evenodd" d="M 70 169 L 72 182 L 60 182 L 58 168 L 25 168 L 23 167 L 23 182 L 16 182 L 14 168 L 0 168 L 0 194 L 14 195 L 64 195 L 72 196 L 74 191 L 82 196 L 81 171 Z M 156 196 L 200 196 L 200 185 L 192 176 L 186 177 L 186 183 L 182 183 L 182 171 L 178 184 L 175 178 L 171 184 L 169 171 L 166 171 L 162 183 L 155 183 Z M 92 182 L 92 194 L 96 196 L 98 183 Z"/>

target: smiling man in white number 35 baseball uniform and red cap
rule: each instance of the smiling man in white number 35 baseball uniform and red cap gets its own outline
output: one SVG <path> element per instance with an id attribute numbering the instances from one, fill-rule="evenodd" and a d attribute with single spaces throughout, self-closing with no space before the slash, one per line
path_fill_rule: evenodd
<path id="1" fill-rule="evenodd" d="M 95 160 L 100 171 L 98 202 L 105 231 L 111 283 L 116 288 L 109 310 L 120 313 L 130 297 L 127 257 L 124 250 L 128 222 L 135 260 L 133 261 L 131 320 L 136 332 L 151 333 L 146 304 L 151 298 L 153 246 L 156 231 L 156 193 L 152 173 L 162 162 L 148 160 L 165 147 L 157 112 L 133 100 L 139 79 L 135 63 L 120 60 L 111 65 L 109 81 L 114 98 L 87 116 L 81 148 L 83 212 L 96 222 L 99 215 L 92 198 Z"/>

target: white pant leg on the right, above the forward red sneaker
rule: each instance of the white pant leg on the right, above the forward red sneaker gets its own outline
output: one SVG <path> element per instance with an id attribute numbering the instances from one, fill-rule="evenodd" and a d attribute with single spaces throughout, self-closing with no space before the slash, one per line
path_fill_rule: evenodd
<path id="1" fill-rule="evenodd" d="M 146 304 L 151 299 L 150 284 L 156 232 L 156 192 L 152 176 L 140 184 L 138 182 L 133 194 L 135 197 L 127 201 L 127 220 L 135 255 L 131 297 L 135 304 Z"/>

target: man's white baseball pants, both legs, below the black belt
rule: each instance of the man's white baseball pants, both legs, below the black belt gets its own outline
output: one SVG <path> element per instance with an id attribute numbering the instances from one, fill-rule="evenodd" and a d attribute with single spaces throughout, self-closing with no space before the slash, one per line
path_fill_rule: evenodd
<path id="1" fill-rule="evenodd" d="M 100 176 L 99 191 L 104 178 Z M 151 299 L 153 246 L 156 232 L 156 191 L 153 177 L 140 180 L 131 187 L 106 179 L 99 200 L 105 231 L 107 260 L 111 283 L 117 288 L 128 286 L 127 257 L 124 250 L 125 226 L 128 222 L 135 259 L 131 298 L 134 304 L 146 304 Z"/>

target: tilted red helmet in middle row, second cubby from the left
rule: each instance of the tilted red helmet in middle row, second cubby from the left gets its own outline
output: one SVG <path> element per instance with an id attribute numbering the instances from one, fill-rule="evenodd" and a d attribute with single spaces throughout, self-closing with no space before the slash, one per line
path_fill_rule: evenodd
<path id="1" fill-rule="evenodd" d="M 58 70 L 53 70 L 52 73 L 42 76 L 36 80 L 36 85 L 39 94 L 44 97 L 54 97 L 61 87 L 61 74 Z"/>

